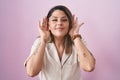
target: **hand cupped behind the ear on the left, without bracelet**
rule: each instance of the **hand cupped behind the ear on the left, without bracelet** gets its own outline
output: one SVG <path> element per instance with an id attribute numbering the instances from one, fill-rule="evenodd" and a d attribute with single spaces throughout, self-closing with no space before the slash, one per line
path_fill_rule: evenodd
<path id="1" fill-rule="evenodd" d="M 42 41 L 48 42 L 50 40 L 50 31 L 47 25 L 47 18 L 44 17 L 42 21 L 39 21 L 39 32 L 40 32 L 40 39 Z"/>

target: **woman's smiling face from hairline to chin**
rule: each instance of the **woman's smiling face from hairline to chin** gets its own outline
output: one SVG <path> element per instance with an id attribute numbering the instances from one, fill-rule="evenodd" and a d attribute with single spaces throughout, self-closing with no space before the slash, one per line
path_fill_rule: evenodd
<path id="1" fill-rule="evenodd" d="M 55 10 L 49 18 L 49 30 L 55 37 L 64 37 L 68 33 L 69 20 L 61 10 Z"/>

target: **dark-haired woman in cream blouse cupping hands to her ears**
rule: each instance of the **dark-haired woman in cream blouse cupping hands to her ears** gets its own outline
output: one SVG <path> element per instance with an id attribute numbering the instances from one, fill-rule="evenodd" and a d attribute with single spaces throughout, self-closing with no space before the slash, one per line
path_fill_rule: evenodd
<path id="1" fill-rule="evenodd" d="M 39 74 L 40 80 L 81 80 L 80 68 L 93 71 L 95 58 L 79 34 L 82 24 L 67 7 L 53 7 L 39 22 L 40 37 L 25 61 L 27 74 Z"/>

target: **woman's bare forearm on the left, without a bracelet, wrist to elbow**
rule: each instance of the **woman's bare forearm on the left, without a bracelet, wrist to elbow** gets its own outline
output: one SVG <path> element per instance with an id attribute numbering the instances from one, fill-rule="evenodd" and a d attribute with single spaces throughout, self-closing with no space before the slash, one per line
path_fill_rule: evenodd
<path id="1" fill-rule="evenodd" d="M 26 69 L 29 76 L 35 76 L 40 72 L 43 63 L 45 46 L 46 43 L 44 41 L 40 41 L 40 43 L 36 46 L 36 50 L 28 59 Z"/>

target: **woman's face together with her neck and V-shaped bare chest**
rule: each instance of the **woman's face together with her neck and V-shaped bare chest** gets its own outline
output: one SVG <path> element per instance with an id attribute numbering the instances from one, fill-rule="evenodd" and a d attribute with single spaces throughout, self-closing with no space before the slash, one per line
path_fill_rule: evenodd
<path id="1" fill-rule="evenodd" d="M 68 18 L 63 11 L 56 10 L 49 20 L 49 30 L 54 35 L 55 46 L 61 60 L 64 51 L 64 36 L 68 33 L 69 22 Z"/>

